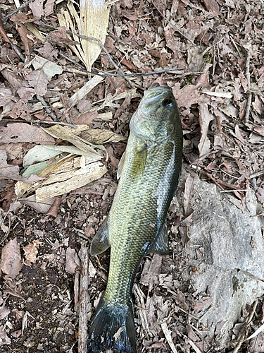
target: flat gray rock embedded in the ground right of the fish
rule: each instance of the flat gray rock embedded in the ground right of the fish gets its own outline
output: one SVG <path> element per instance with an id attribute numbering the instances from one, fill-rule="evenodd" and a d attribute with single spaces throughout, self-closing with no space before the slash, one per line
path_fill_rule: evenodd
<path id="1" fill-rule="evenodd" d="M 186 251 L 189 265 L 198 269 L 191 275 L 191 284 L 195 294 L 206 293 L 212 299 L 199 312 L 201 317 L 211 306 L 203 316 L 203 325 L 213 333 L 218 323 L 224 322 L 220 332 L 215 332 L 221 349 L 230 342 L 242 306 L 253 304 L 263 295 L 263 216 L 252 217 L 261 205 L 249 191 L 242 212 L 227 193 L 220 193 L 214 184 L 199 178 L 194 179 L 191 204 L 194 213 Z"/>

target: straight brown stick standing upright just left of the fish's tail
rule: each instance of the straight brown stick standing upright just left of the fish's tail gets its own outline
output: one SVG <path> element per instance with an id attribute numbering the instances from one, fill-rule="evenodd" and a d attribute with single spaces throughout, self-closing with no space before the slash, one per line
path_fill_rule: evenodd
<path id="1" fill-rule="evenodd" d="M 81 277 L 80 277 L 80 311 L 79 311 L 79 337 L 78 337 L 78 352 L 86 353 L 87 351 L 87 303 L 88 295 L 88 268 L 89 268 L 89 254 L 88 249 L 82 246 L 79 251 L 81 260 Z"/>

